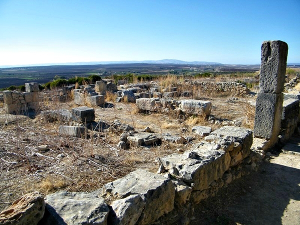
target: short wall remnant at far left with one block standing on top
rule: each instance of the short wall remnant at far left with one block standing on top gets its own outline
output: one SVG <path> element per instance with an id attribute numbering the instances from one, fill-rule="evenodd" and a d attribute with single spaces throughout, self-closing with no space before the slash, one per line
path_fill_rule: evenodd
<path id="1" fill-rule="evenodd" d="M 3 91 L 4 110 L 9 114 L 21 114 L 39 106 L 38 83 L 25 83 L 25 92 Z"/>

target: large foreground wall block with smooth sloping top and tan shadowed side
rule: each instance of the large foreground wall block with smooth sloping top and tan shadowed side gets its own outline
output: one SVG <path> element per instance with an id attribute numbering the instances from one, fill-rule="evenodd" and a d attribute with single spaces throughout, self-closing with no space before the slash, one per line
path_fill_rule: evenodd
<path id="1" fill-rule="evenodd" d="M 143 209 L 136 224 L 149 224 L 174 208 L 175 189 L 172 181 L 143 169 L 104 184 L 103 190 L 120 198 L 133 194 L 142 198 Z"/>

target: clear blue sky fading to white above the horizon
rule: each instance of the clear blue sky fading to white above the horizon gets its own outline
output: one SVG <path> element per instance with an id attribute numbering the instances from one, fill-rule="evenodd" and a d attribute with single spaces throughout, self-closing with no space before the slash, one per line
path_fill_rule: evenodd
<path id="1" fill-rule="evenodd" d="M 300 62 L 300 0 L 0 0 L 0 67 L 159 60 L 260 63 L 265 40 Z"/>

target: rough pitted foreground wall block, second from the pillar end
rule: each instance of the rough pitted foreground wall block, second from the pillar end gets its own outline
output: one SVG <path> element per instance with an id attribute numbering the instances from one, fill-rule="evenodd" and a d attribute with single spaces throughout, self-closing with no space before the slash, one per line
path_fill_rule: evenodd
<path id="1" fill-rule="evenodd" d="M 184 154 L 161 158 L 161 162 L 165 169 L 174 171 L 172 175 L 190 183 L 193 190 L 203 190 L 229 168 L 230 155 L 218 144 L 200 142 Z"/>

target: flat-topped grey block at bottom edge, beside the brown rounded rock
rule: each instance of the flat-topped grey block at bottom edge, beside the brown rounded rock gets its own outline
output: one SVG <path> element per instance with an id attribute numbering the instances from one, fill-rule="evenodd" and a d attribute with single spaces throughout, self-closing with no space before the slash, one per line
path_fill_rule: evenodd
<path id="1" fill-rule="evenodd" d="M 95 194 L 63 190 L 48 194 L 45 202 L 48 224 L 107 224 L 109 208 Z"/>

